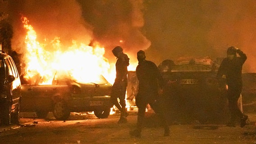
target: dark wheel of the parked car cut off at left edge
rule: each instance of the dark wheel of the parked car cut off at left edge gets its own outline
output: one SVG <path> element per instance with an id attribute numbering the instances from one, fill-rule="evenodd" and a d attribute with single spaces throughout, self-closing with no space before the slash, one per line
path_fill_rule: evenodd
<path id="1" fill-rule="evenodd" d="M 4 103 L 3 107 L 1 124 L 8 126 L 11 124 L 11 105 L 9 103 Z"/>

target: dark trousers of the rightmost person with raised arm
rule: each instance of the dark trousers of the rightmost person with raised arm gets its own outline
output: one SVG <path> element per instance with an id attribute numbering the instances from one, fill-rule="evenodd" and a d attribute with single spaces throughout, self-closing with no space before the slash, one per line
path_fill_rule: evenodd
<path id="1" fill-rule="evenodd" d="M 243 117 L 243 113 L 238 108 L 238 99 L 242 92 L 242 88 L 229 88 L 228 89 L 228 100 L 230 110 L 230 121 L 235 122 L 236 117 Z"/>

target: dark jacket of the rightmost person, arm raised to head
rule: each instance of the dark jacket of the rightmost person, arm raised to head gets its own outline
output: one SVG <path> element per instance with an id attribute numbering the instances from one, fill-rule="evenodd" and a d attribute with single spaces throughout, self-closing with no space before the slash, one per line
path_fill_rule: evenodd
<path id="1" fill-rule="evenodd" d="M 229 88 L 242 87 L 242 65 L 247 56 L 240 49 L 237 52 L 240 57 L 235 57 L 233 60 L 224 58 L 217 73 L 217 79 L 221 79 L 223 75 L 226 76 Z"/>

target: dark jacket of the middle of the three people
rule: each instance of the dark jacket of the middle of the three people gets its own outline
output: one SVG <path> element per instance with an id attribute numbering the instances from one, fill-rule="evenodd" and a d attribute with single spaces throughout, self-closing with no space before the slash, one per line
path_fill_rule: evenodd
<path id="1" fill-rule="evenodd" d="M 158 88 L 163 87 L 163 78 L 155 63 L 148 60 L 139 63 L 136 74 L 139 80 L 137 96 L 157 96 Z"/>

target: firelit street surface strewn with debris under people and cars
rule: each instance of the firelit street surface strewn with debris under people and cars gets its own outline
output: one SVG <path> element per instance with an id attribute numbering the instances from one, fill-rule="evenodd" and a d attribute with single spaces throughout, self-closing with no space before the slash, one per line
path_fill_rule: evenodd
<path id="1" fill-rule="evenodd" d="M 21 113 L 21 124 L 1 126 L 1 144 L 256 144 L 256 114 L 249 114 L 248 125 L 241 128 L 214 124 L 170 124 L 170 136 L 154 113 L 146 113 L 141 138 L 129 135 L 137 122 L 137 112 L 129 112 L 128 123 L 118 124 L 119 114 L 106 119 L 91 113 L 72 113 L 67 121 L 47 120 L 33 113 Z"/>

